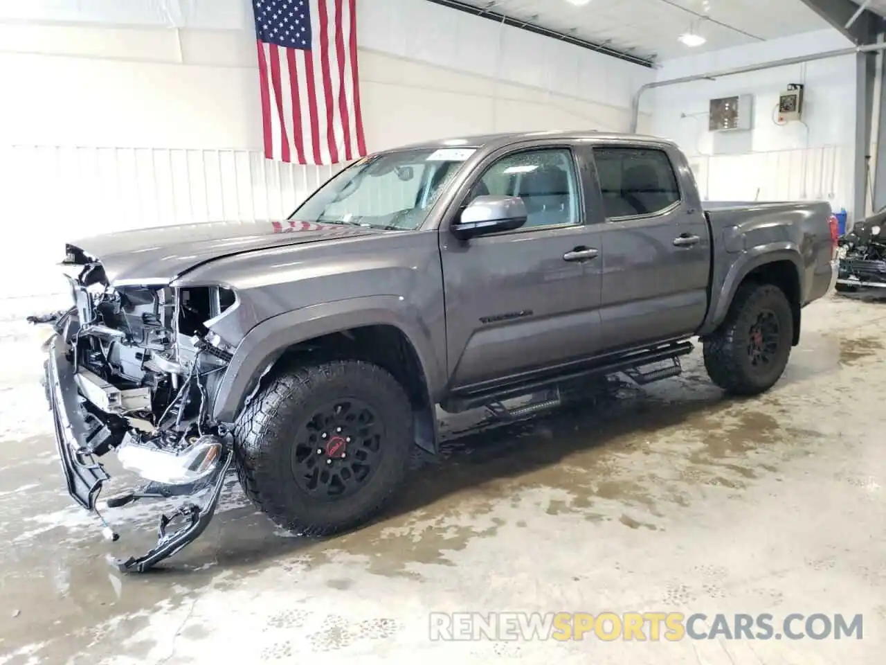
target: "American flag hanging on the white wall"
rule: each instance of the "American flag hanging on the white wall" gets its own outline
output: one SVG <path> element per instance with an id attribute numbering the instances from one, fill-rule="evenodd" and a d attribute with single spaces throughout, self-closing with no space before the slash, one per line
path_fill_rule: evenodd
<path id="1" fill-rule="evenodd" d="M 356 0 L 252 0 L 265 157 L 338 164 L 366 155 Z"/>

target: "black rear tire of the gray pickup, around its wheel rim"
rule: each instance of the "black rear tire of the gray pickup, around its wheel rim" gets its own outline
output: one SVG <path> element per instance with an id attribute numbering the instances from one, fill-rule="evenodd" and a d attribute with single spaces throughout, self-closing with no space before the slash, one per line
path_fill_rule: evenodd
<path id="1" fill-rule="evenodd" d="M 771 362 L 755 367 L 748 352 L 750 329 L 761 312 L 778 321 L 778 340 Z M 759 395 L 773 387 L 788 364 L 794 317 L 784 292 L 771 284 L 738 288 L 726 320 L 703 341 L 704 369 L 717 386 L 733 395 Z"/>

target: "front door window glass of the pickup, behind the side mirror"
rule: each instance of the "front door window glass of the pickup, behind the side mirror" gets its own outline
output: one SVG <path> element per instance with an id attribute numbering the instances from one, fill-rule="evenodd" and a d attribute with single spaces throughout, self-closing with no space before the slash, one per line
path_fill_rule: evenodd
<path id="1" fill-rule="evenodd" d="M 565 148 L 502 157 L 473 186 L 468 202 L 484 194 L 518 196 L 526 205 L 524 228 L 578 224 L 579 187 L 572 153 Z"/>

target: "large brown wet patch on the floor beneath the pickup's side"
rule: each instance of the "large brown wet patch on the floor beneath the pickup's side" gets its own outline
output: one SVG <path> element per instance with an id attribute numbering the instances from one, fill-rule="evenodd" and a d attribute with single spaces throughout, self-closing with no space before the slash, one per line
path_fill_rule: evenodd
<path id="1" fill-rule="evenodd" d="M 371 573 L 416 576 L 415 564 L 452 565 L 454 552 L 494 537 L 503 526 L 496 516 L 503 502 L 517 514 L 540 510 L 655 531 L 663 528 L 665 506 L 691 505 L 698 496 L 693 488 L 740 491 L 777 470 L 773 457 L 803 454 L 820 438 L 747 411 L 744 401 L 724 398 L 710 383 L 686 381 L 675 392 L 664 399 L 628 388 L 610 403 L 461 434 L 444 444 L 443 461 L 416 465 L 391 514 L 307 557 L 316 566 L 346 552 L 368 557 Z M 778 401 L 765 404 L 772 411 Z M 768 464 L 755 461 L 760 448 Z M 630 463 L 637 455 L 669 457 L 672 473 L 638 477 Z"/>

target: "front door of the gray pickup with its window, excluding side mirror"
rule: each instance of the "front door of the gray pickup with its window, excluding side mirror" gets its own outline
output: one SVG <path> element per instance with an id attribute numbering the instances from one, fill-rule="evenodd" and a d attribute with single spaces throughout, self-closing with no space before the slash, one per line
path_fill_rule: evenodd
<path id="1" fill-rule="evenodd" d="M 516 380 L 599 348 L 600 257 L 570 254 L 600 246 L 601 224 L 587 224 L 587 170 L 570 146 L 550 145 L 495 156 L 464 185 L 459 212 L 482 194 L 519 196 L 528 221 L 467 242 L 448 232 L 459 212 L 440 228 L 451 388 Z"/>

